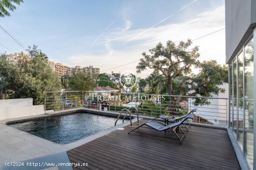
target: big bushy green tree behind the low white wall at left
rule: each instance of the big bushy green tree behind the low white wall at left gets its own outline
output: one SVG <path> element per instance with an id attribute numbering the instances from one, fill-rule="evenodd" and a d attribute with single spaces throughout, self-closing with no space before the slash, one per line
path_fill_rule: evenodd
<path id="1" fill-rule="evenodd" d="M 37 46 L 29 47 L 28 56 L 20 53 L 15 64 L 0 55 L 0 77 L 0 91 L 9 99 L 33 98 L 34 104 L 43 104 L 46 91 L 61 90 L 60 79 Z"/>

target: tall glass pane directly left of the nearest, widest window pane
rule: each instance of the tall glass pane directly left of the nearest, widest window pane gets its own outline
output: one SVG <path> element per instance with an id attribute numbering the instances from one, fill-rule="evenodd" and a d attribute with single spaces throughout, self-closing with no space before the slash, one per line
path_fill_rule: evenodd
<path id="1" fill-rule="evenodd" d="M 243 52 L 241 52 L 238 56 L 238 144 L 242 148 L 243 151 Z"/>

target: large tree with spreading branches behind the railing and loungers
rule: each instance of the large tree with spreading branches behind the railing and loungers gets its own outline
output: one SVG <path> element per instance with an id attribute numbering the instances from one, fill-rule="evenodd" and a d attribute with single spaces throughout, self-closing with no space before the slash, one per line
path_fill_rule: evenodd
<path id="1" fill-rule="evenodd" d="M 182 96 L 206 96 L 224 93 L 225 89 L 220 88 L 224 82 L 228 82 L 228 69 L 225 65 L 218 64 L 215 60 L 200 62 L 198 58 L 199 47 L 191 48 L 192 41 L 181 41 L 175 44 L 167 41 L 166 46 L 161 43 L 150 49 L 149 53 L 142 53 L 136 69 L 137 73 L 146 69 L 153 69 L 152 75 L 161 77 L 162 82 L 168 88 L 170 105 L 186 99 Z M 189 50 L 190 49 L 190 50 Z M 195 69 L 199 70 L 197 75 Z M 178 96 L 174 96 L 178 95 Z M 204 99 L 196 99 L 196 103 L 209 103 Z"/>

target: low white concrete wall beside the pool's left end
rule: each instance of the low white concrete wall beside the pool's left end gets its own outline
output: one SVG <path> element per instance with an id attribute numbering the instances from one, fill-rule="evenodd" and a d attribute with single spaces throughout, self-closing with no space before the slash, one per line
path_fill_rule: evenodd
<path id="1" fill-rule="evenodd" d="M 0 100 L 0 120 L 44 114 L 44 105 L 33 106 L 33 99 Z"/>

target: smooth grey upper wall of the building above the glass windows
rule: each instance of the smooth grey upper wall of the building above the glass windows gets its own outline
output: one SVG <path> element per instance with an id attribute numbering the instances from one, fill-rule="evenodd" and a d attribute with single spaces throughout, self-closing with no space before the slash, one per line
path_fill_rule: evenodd
<path id="1" fill-rule="evenodd" d="M 256 0 L 225 0 L 226 63 L 236 55 L 256 26 Z"/>

